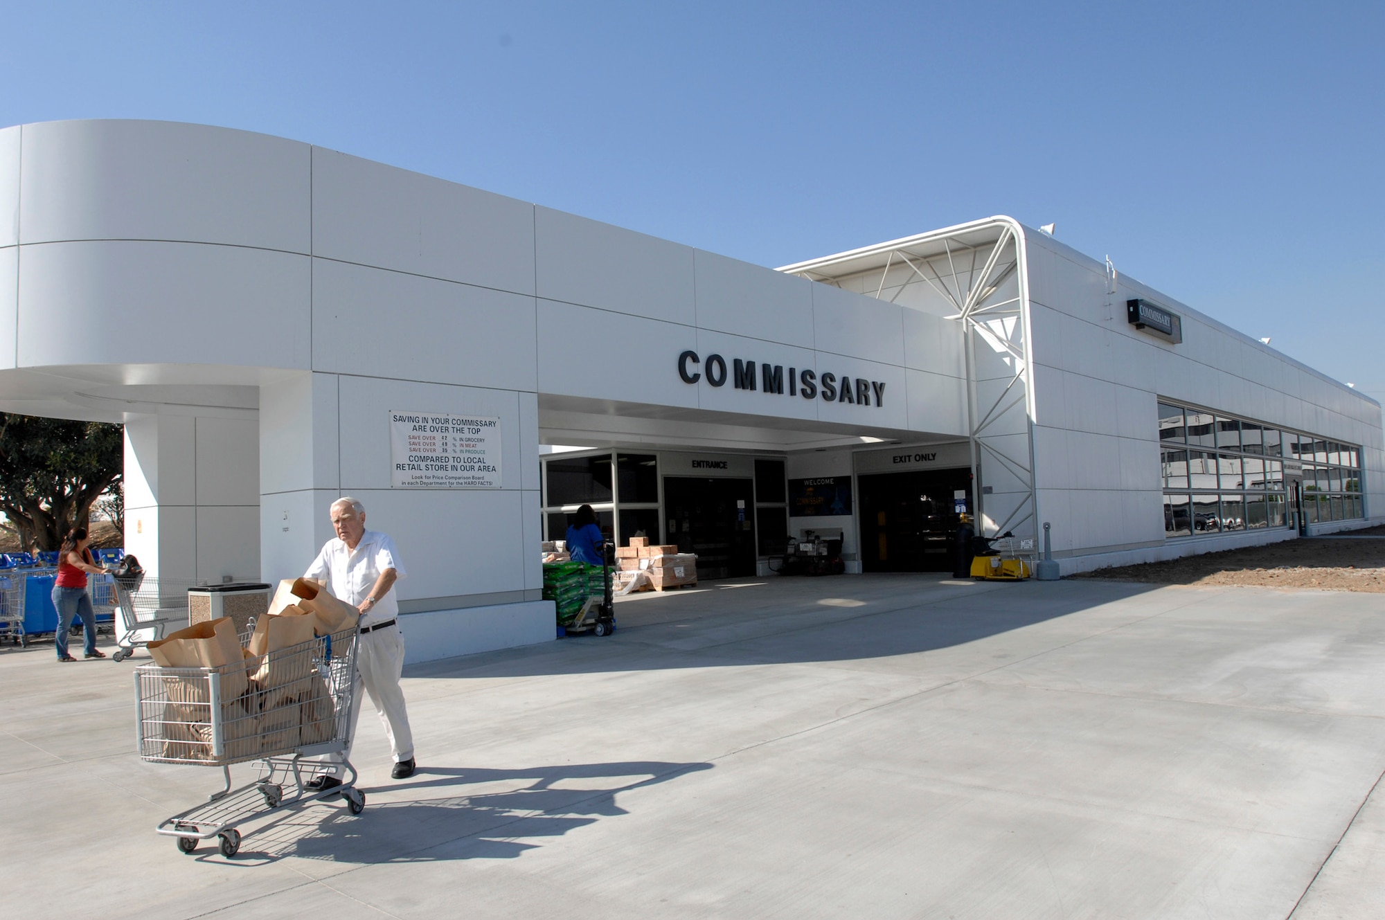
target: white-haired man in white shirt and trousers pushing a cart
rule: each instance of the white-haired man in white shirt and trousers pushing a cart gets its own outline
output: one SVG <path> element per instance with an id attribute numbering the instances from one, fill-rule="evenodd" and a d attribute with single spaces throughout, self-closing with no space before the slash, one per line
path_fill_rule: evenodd
<path id="1" fill-rule="evenodd" d="M 409 712 L 404 709 L 404 691 L 399 686 L 399 675 L 404 669 L 404 639 L 399 633 L 396 618 L 399 601 L 395 599 L 395 582 L 407 572 L 399 563 L 399 550 L 389 536 L 366 529 L 366 508 L 360 502 L 341 497 L 332 502 L 332 528 L 337 538 L 327 540 L 323 551 L 307 567 L 305 578 L 325 583 L 334 597 L 355 604 L 360 610 L 360 637 L 356 644 L 356 669 L 360 683 L 366 686 L 375 712 L 385 725 L 385 736 L 395 754 L 396 780 L 414 773 L 414 736 L 409 730 Z M 357 694 L 360 690 L 357 689 Z M 357 696 L 355 718 L 360 718 Z M 352 740 L 356 725 L 352 723 Z M 350 755 L 350 747 L 346 748 Z M 337 763 L 331 773 L 319 776 L 309 783 L 316 790 L 341 786 L 341 759 L 335 755 L 324 758 Z"/>

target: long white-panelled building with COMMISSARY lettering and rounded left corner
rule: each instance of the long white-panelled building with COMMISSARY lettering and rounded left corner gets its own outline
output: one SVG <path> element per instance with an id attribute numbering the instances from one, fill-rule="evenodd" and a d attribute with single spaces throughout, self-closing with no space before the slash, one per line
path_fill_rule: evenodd
<path id="1" fill-rule="evenodd" d="M 123 423 L 126 549 L 302 574 L 352 495 L 411 660 L 551 639 L 591 504 L 767 576 L 1076 572 L 1379 522 L 1381 407 L 996 216 L 780 269 L 249 132 L 0 130 L 0 409 Z"/>

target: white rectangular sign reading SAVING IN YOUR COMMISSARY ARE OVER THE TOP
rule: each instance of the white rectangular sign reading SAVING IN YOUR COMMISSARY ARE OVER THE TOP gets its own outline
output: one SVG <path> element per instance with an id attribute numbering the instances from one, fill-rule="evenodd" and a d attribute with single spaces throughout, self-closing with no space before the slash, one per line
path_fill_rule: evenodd
<path id="1" fill-rule="evenodd" d="M 499 489 L 500 420 L 391 412 L 391 486 Z"/>

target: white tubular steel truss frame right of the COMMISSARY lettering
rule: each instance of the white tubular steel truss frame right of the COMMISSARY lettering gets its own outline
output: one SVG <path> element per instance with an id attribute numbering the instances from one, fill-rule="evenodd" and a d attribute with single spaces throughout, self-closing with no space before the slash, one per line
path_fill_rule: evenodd
<path id="1" fill-rule="evenodd" d="M 978 234 L 989 237 L 988 231 L 992 230 L 993 238 L 976 241 Z M 867 251 L 843 254 L 838 259 L 846 262 L 848 258 L 863 255 L 867 255 Z M 882 256 L 884 265 L 866 272 L 867 274 L 879 272 L 878 284 L 866 285 L 867 294 L 874 287 L 874 297 L 896 302 L 911 284 L 927 284 L 956 309 L 947 319 L 957 320 L 964 338 L 976 529 L 983 536 L 1012 531 L 1019 540 L 1029 540 L 1021 554 L 1036 558 L 1039 547 L 1039 490 L 1035 477 L 1036 410 L 1024 227 L 1010 218 L 990 218 L 895 240 L 871 248 L 868 255 Z M 906 265 L 910 274 L 896 288 L 889 285 L 888 280 L 891 270 L 899 265 Z M 830 260 L 789 266 L 785 270 L 814 281 L 828 284 L 837 281 Z M 1011 276 L 1015 277 L 1017 294 L 996 299 Z M 886 295 L 886 290 L 892 290 L 893 294 Z M 986 399 L 985 405 L 979 391 L 983 384 L 993 381 L 979 380 L 978 344 L 1001 356 L 1001 362 L 1012 371 L 1000 393 Z M 1022 427 L 1017 418 L 1019 412 L 1024 413 Z M 1022 435 L 1024 448 L 1018 452 L 1021 456 L 1015 456 L 1017 452 L 1011 446 L 1001 443 L 1001 441 L 1012 442 L 1017 435 Z M 1018 492 L 1006 493 L 1019 496 L 1014 507 L 1000 506 L 996 500 L 999 496 L 988 502 L 990 496 L 986 495 L 986 472 L 996 470 L 1003 470 L 1019 482 Z M 994 508 L 996 514 L 990 514 L 990 508 Z"/>

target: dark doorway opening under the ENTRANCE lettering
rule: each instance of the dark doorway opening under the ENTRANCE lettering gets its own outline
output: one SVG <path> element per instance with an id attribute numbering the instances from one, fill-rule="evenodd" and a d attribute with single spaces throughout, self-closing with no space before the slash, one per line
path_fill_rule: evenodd
<path id="1" fill-rule="evenodd" d="M 698 578 L 755 575 L 755 481 L 663 478 L 669 543 L 697 553 Z"/>

